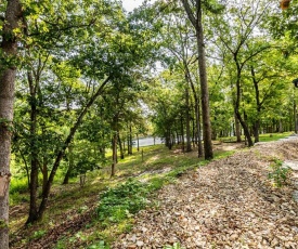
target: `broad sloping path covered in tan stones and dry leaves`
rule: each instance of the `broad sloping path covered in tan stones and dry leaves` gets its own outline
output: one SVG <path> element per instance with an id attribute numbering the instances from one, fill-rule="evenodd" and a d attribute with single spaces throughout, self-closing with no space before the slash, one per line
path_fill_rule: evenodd
<path id="1" fill-rule="evenodd" d="M 296 186 L 272 186 L 274 158 L 298 160 L 298 141 L 260 144 L 183 175 L 112 248 L 298 248 Z"/>

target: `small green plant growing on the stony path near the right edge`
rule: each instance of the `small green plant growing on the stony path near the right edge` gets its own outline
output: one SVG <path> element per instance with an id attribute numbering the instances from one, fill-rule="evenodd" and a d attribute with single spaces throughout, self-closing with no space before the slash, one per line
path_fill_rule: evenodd
<path id="1" fill-rule="evenodd" d="M 282 187 L 290 173 L 290 168 L 283 166 L 283 161 L 278 159 L 275 159 L 270 167 L 272 168 L 272 172 L 268 174 L 268 178 L 273 180 L 277 187 Z"/>

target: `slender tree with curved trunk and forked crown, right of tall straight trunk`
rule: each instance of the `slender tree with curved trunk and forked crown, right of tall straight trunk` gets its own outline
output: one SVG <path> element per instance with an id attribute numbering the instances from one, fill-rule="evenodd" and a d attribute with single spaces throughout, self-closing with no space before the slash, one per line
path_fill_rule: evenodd
<path id="1" fill-rule="evenodd" d="M 254 12 L 250 11 L 251 6 L 254 6 Z M 271 44 L 265 40 L 260 45 L 256 36 L 258 27 L 261 26 L 268 14 L 268 9 L 269 3 L 261 3 L 259 1 L 229 4 L 226 6 L 226 15 L 224 16 L 224 19 L 229 18 L 230 22 L 222 22 L 222 18 L 218 18 L 216 24 L 219 27 L 219 39 L 229 53 L 224 58 L 229 61 L 232 60 L 234 64 L 234 112 L 236 119 L 243 127 L 245 136 L 248 141 L 248 146 L 252 146 L 254 142 L 247 123 L 247 114 L 245 109 L 241 108 L 243 100 L 244 71 L 254 57 L 271 48 Z M 230 34 L 234 35 L 233 38 L 231 38 Z M 228 64 L 228 62 L 225 63 Z"/>

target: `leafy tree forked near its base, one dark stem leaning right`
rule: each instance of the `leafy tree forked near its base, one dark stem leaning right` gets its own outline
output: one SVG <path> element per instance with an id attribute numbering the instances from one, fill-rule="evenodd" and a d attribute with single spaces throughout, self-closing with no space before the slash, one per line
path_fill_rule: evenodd
<path id="1" fill-rule="evenodd" d="M 24 3 L 27 15 L 24 30 L 26 39 L 22 40 L 26 55 L 26 73 L 23 75 L 26 75 L 29 84 L 27 101 L 30 107 L 30 155 L 27 157 L 30 159 L 30 208 L 27 224 L 42 219 L 61 161 L 96 99 L 104 93 L 108 83 L 115 84 L 122 80 L 126 84 L 131 81 L 131 73 L 144 66 L 144 62 L 150 62 L 146 58 L 154 48 L 142 32 L 134 29 L 135 26 L 130 26 L 116 1 L 86 0 L 80 5 L 76 1 L 60 3 Z M 142 48 L 140 43 L 143 44 Z M 65 75 L 57 74 L 59 67 Z M 73 75 L 76 70 L 79 74 Z M 76 77 L 79 79 L 74 80 Z M 86 92 L 80 91 L 83 94 L 70 100 L 72 87 L 69 91 L 69 86 L 66 87 L 69 81 L 79 81 Z M 70 104 L 74 106 L 67 123 L 62 121 L 65 116 L 55 116 L 61 113 L 63 102 L 68 107 L 69 102 L 73 102 Z M 66 124 L 67 132 L 55 136 L 57 144 L 54 148 L 38 152 L 36 148 L 43 144 L 41 141 L 44 142 L 42 137 L 46 139 L 52 132 L 48 126 L 49 120 L 56 130 L 65 128 Z M 40 121 L 48 124 L 44 127 Z M 40 158 L 49 158 L 50 155 L 51 160 L 41 167 L 44 187 L 41 202 L 38 205 L 37 176 L 40 171 Z"/>

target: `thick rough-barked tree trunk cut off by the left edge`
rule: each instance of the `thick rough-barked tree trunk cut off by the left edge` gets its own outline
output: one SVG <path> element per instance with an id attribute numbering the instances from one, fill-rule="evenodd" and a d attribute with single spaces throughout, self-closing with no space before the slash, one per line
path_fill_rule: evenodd
<path id="1" fill-rule="evenodd" d="M 1 63 L 16 57 L 17 39 L 14 29 L 20 27 L 21 21 L 20 0 L 8 0 L 0 44 L 1 56 L 3 56 Z M 9 63 L 9 60 L 8 64 L 0 64 L 0 181 L 5 186 L 3 193 L 0 193 L 1 249 L 9 248 L 9 183 L 15 76 L 16 65 Z"/>

